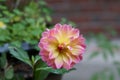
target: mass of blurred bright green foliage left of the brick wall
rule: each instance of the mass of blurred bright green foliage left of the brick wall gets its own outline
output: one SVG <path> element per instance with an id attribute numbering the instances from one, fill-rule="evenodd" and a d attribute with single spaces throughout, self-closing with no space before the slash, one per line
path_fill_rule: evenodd
<path id="1" fill-rule="evenodd" d="M 5 29 L 0 28 L 0 45 L 9 43 L 21 47 L 21 43 L 26 42 L 34 46 L 51 21 L 51 10 L 43 0 L 30 1 L 22 10 L 13 8 L 10 11 L 1 4 L 0 11 L 0 22 L 6 25 Z"/>

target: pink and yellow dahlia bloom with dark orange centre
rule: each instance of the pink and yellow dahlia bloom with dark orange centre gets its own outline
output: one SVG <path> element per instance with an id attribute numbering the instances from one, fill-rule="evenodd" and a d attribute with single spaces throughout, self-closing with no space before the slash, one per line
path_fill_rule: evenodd
<path id="1" fill-rule="evenodd" d="M 54 28 L 43 32 L 38 46 L 43 61 L 57 69 L 72 68 L 82 60 L 86 48 L 79 30 L 67 24 L 56 24 Z"/>

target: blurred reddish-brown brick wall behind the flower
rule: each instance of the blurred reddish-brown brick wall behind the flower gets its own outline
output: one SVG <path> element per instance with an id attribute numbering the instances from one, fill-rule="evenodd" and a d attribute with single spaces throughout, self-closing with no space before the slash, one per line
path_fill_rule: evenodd
<path id="1" fill-rule="evenodd" d="M 46 0 L 54 10 L 53 23 L 65 17 L 84 31 L 105 27 L 120 31 L 120 0 Z"/>

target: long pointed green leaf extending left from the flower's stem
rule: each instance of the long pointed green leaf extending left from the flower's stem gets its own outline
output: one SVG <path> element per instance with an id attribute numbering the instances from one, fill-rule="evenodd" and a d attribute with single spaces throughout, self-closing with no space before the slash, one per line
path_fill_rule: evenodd
<path id="1" fill-rule="evenodd" d="M 33 67 L 28 54 L 23 49 L 16 47 L 9 47 L 9 50 L 10 50 L 10 54 L 13 55 L 15 58 Z"/>

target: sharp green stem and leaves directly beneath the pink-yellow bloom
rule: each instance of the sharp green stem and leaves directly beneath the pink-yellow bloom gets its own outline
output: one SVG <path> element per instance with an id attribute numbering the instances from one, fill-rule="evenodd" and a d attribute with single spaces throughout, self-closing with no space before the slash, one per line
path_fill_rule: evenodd
<path id="1" fill-rule="evenodd" d="M 48 67 L 39 56 L 32 56 L 30 59 L 28 53 L 26 53 L 21 48 L 10 47 L 9 50 L 10 54 L 13 55 L 15 58 L 19 59 L 20 61 L 23 61 L 26 64 L 29 64 L 29 66 L 32 67 L 33 77 L 35 80 L 44 80 L 50 72 L 56 74 L 64 74 L 69 71 L 75 70 L 74 68 L 71 70 L 53 69 L 51 67 Z"/>

